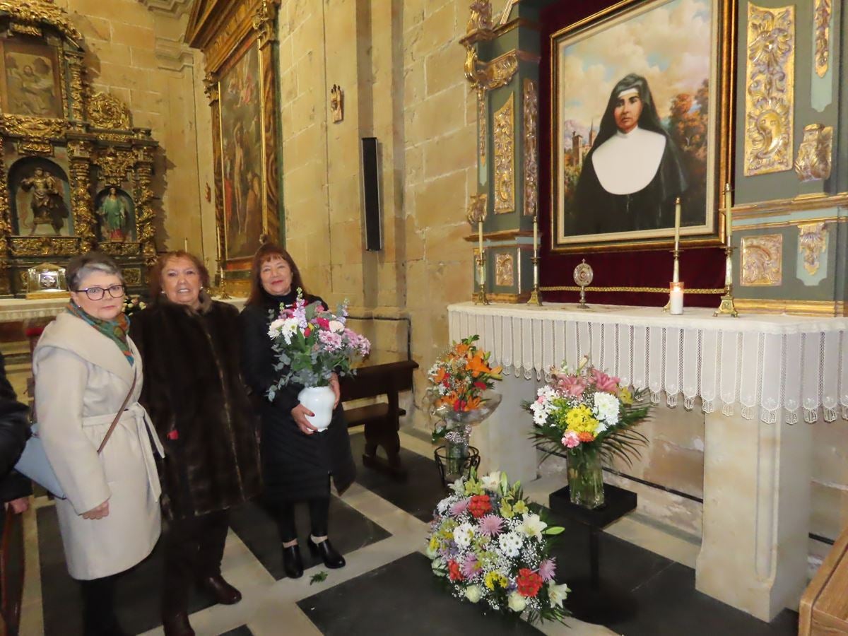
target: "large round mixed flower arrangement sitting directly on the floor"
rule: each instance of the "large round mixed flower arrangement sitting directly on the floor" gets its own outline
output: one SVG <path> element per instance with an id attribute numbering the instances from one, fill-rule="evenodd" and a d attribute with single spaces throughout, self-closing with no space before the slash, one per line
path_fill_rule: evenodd
<path id="1" fill-rule="evenodd" d="M 521 484 L 505 473 L 472 473 L 438 502 L 428 535 L 432 571 L 452 594 L 528 622 L 562 622 L 569 592 L 556 583 L 550 545 L 562 527 L 531 510 Z"/>

